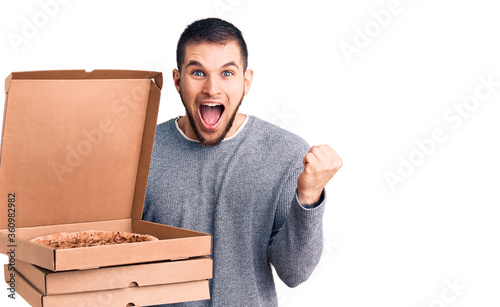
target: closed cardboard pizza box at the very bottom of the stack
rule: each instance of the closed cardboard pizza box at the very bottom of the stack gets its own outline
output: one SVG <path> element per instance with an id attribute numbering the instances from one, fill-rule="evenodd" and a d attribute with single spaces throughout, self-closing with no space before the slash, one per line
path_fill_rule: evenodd
<path id="1" fill-rule="evenodd" d="M 44 295 L 18 272 L 14 271 L 14 274 L 16 293 L 34 307 L 148 306 L 206 300 L 210 298 L 208 280 L 144 287 L 130 286 L 114 290 Z M 5 281 L 8 282 L 10 273 L 6 271 L 4 276 Z"/>

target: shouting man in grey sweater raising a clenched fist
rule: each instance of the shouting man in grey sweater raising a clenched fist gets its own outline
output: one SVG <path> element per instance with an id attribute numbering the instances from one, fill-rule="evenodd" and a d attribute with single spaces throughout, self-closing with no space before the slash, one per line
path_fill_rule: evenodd
<path id="1" fill-rule="evenodd" d="M 252 83 L 232 24 L 192 23 L 174 84 L 186 116 L 157 126 L 144 219 L 211 233 L 211 300 L 176 306 L 277 306 L 271 264 L 291 287 L 322 252 L 324 186 L 342 165 L 327 145 L 238 113 Z"/>

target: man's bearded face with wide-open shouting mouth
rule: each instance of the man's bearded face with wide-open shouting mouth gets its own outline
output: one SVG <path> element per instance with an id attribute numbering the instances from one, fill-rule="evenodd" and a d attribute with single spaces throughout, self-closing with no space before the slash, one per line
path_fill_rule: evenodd
<path id="1" fill-rule="evenodd" d="M 188 44 L 181 72 L 173 71 L 190 122 L 184 132 L 209 146 L 234 134 L 233 121 L 252 76 L 244 71 L 236 42 Z"/>

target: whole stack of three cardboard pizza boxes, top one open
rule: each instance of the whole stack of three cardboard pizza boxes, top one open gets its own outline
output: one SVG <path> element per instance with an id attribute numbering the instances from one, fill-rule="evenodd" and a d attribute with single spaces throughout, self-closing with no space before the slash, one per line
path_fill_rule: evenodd
<path id="1" fill-rule="evenodd" d="M 33 306 L 146 306 L 210 298 L 209 234 L 141 220 L 162 75 L 12 73 L 0 153 L 0 251 Z M 168 214 L 168 213 L 166 213 Z M 33 238 L 124 231 L 157 241 L 54 249 Z"/>

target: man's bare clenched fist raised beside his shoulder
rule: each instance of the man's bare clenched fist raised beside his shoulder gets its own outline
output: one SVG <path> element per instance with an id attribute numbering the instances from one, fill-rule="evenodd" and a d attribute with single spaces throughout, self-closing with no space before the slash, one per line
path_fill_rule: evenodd
<path id="1" fill-rule="evenodd" d="M 342 167 L 342 159 L 328 145 L 313 146 L 304 157 L 304 171 L 297 180 L 299 202 L 310 205 L 317 202 L 325 185 Z"/>

